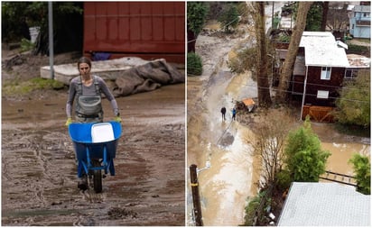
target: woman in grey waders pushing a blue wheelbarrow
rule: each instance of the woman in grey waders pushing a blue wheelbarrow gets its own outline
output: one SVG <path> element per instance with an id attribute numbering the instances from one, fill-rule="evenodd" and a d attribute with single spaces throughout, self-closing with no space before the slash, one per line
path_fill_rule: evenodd
<path id="1" fill-rule="evenodd" d="M 105 81 L 90 74 L 91 61 L 82 57 L 78 62 L 79 76 L 70 82 L 69 97 L 66 105 L 70 137 L 74 143 L 78 160 L 78 187 L 88 189 L 88 177 L 93 178 L 96 192 L 102 191 L 101 170 L 115 175 L 114 161 L 117 139 L 121 135 L 121 118 L 116 99 Z M 101 93 L 110 102 L 115 120 L 103 123 Z M 75 119 L 72 123 L 72 105 L 75 100 Z M 104 176 L 105 177 L 105 176 Z"/>

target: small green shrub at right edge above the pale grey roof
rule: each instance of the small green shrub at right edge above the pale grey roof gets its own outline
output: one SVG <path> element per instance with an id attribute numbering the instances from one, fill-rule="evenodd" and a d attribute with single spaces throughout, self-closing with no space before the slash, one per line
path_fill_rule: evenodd
<path id="1" fill-rule="evenodd" d="M 349 160 L 353 164 L 353 169 L 357 179 L 357 191 L 365 195 L 371 194 L 371 163 L 367 156 L 355 153 Z"/>

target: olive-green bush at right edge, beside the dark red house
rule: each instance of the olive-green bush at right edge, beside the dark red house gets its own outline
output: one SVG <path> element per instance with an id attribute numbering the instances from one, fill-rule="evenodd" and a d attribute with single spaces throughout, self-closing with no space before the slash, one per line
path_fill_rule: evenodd
<path id="1" fill-rule="evenodd" d="M 349 81 L 336 101 L 335 117 L 339 123 L 370 127 L 370 75 L 368 70 L 358 72 L 355 80 Z"/>

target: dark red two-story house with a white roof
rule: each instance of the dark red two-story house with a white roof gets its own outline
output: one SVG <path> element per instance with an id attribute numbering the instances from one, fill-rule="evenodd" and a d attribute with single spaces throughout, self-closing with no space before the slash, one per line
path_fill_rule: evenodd
<path id="1" fill-rule="evenodd" d="M 331 32 L 302 33 L 288 88 L 292 97 L 302 104 L 302 119 L 310 114 L 314 121 L 332 121 L 330 113 L 350 66 L 347 48 L 345 43 L 336 41 Z M 277 59 L 282 63 L 286 52 L 285 49 L 276 50 Z"/>

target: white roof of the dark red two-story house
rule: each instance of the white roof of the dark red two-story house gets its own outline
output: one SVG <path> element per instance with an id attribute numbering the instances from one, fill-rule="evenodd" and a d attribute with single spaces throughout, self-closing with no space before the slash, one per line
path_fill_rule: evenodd
<path id="1" fill-rule="evenodd" d="M 345 50 L 331 32 L 303 32 L 300 47 L 305 49 L 306 66 L 349 67 Z"/>

